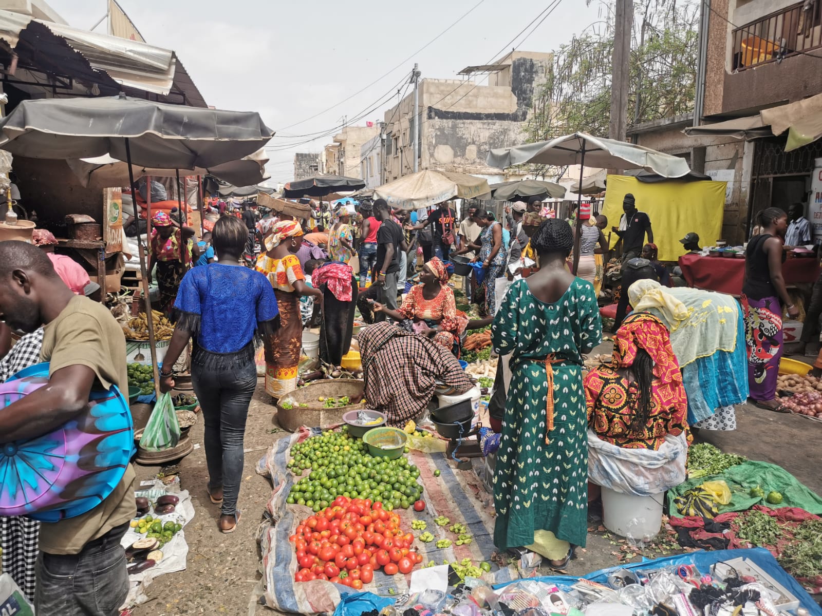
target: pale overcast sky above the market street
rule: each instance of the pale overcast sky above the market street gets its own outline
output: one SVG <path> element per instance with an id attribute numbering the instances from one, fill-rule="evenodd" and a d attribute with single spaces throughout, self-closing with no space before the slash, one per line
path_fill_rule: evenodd
<path id="1" fill-rule="evenodd" d="M 107 6 L 105 0 L 47 1 L 70 25 L 85 29 L 105 15 Z M 551 51 L 600 17 L 598 0 L 590 7 L 584 0 L 118 2 L 146 42 L 177 52 L 207 103 L 257 111 L 277 131 L 269 144 L 274 182 L 293 179 L 293 154 L 321 151 L 333 133 L 300 145 L 314 135 L 293 136 L 331 131 L 343 116 L 350 121 L 386 101 L 358 123 L 381 119 L 413 62 L 423 78 L 453 79 L 464 67 L 492 62 L 503 48 Z M 520 44 L 538 21 L 529 23 L 552 5 L 545 21 Z M 440 39 L 415 53 L 467 11 Z M 105 25 L 97 31 L 105 32 Z M 393 99 L 386 100 L 392 92 Z M 341 104 L 307 119 L 336 103 Z"/>

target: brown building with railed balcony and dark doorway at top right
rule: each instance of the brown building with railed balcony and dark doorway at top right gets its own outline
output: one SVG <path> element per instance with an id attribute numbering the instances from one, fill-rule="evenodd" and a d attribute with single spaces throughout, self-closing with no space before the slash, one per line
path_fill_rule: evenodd
<path id="1" fill-rule="evenodd" d="M 807 203 L 822 142 L 785 152 L 787 135 L 760 130 L 733 136 L 760 111 L 822 93 L 820 3 L 795 0 L 710 0 L 704 8 L 704 102 L 700 126 L 723 122 L 713 136 L 682 134 L 693 117 L 669 118 L 629 130 L 641 145 L 690 160 L 691 168 L 728 182 L 723 239 L 750 236 L 754 215 L 771 205 Z M 817 51 L 808 54 L 809 50 Z"/>

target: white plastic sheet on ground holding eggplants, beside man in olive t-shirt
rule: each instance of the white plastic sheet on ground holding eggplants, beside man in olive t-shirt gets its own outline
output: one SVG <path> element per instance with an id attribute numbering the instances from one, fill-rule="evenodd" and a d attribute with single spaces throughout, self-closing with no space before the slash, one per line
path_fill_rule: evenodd
<path id="1" fill-rule="evenodd" d="M 144 482 L 145 483 L 145 482 Z M 154 485 L 140 485 L 138 490 L 135 490 L 135 496 L 145 496 L 152 502 L 163 494 L 174 494 L 180 499 L 180 502 L 174 508 L 173 513 L 167 513 L 160 516 L 159 519 L 165 522 L 174 522 L 175 524 L 182 524 L 182 531 L 176 533 L 169 543 L 165 544 L 161 549 L 163 551 L 163 559 L 159 561 L 154 567 L 146 569 L 144 572 L 134 573 L 128 577 L 128 598 L 126 605 L 139 605 L 148 600 L 145 595 L 145 589 L 155 579 L 166 573 L 173 573 L 176 571 L 183 571 L 186 568 L 186 559 L 188 557 L 188 544 L 186 543 L 185 526 L 188 522 L 194 519 L 194 506 L 192 505 L 192 497 L 188 494 L 188 490 L 178 490 L 178 484 L 164 485 L 162 481 L 155 480 Z M 143 535 L 133 528 L 129 528 L 126 534 L 122 537 L 120 545 L 127 548 Z"/>

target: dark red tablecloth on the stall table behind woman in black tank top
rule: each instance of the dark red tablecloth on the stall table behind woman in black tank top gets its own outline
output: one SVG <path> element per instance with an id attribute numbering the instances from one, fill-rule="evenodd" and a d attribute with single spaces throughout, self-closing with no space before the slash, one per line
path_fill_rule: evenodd
<path id="1" fill-rule="evenodd" d="M 682 276 L 689 287 L 740 295 L 745 278 L 745 260 L 727 257 L 682 255 L 679 258 Z M 815 283 L 820 269 L 814 259 L 788 259 L 782 265 L 787 285 Z"/>

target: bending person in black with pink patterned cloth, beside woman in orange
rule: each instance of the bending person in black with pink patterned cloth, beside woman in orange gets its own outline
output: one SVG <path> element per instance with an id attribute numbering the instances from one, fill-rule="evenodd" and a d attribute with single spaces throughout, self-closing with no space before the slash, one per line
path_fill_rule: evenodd
<path id="1" fill-rule="evenodd" d="M 331 261 L 312 272 L 312 287 L 325 298 L 320 323 L 320 358 L 339 365 L 351 347 L 354 313 L 357 307 L 357 278 L 349 264 Z"/>

